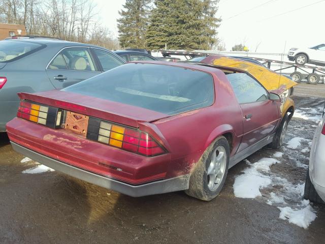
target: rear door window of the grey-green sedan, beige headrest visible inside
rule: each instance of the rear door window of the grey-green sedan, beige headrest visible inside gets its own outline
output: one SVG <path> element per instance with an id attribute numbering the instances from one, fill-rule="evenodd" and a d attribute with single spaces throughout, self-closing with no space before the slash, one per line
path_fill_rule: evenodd
<path id="1" fill-rule="evenodd" d="M 63 65 L 64 64 L 64 65 Z M 66 68 L 64 68 L 66 66 Z M 96 71 L 88 48 L 70 47 L 63 49 L 48 67 L 52 70 Z"/>

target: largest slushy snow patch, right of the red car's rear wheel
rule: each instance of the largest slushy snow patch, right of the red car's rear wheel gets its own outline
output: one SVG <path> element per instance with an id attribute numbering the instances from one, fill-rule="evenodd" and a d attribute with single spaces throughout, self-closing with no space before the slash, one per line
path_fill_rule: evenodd
<path id="1" fill-rule="evenodd" d="M 263 158 L 254 164 L 247 160 L 249 168 L 235 178 L 234 194 L 239 198 L 267 198 L 267 204 L 280 210 L 280 219 L 306 229 L 317 216 L 309 201 L 303 199 L 305 184 L 295 185 L 285 178 L 270 174 L 270 167 L 276 163 L 280 162 L 273 158 Z M 260 190 L 263 188 L 272 190 L 269 196 L 262 196 Z"/>

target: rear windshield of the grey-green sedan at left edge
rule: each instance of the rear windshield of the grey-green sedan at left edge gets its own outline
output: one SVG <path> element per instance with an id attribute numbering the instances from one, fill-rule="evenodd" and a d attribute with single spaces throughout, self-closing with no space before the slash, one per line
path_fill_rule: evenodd
<path id="1" fill-rule="evenodd" d="M 41 47 L 42 45 L 38 43 L 14 40 L 0 41 L 0 62 L 10 62 L 13 59 L 18 59 L 20 56 L 25 56 L 31 51 Z"/>

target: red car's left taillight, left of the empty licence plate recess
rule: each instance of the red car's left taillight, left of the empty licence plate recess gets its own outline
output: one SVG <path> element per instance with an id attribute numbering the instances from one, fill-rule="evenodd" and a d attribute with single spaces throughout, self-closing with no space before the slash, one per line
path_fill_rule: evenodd
<path id="1" fill-rule="evenodd" d="M 17 117 L 50 128 L 60 128 L 63 120 L 63 111 L 51 106 L 21 101 L 18 107 Z"/>

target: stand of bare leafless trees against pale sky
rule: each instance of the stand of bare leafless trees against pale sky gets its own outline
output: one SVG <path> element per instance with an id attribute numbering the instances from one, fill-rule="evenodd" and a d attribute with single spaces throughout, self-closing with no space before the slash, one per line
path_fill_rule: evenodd
<path id="1" fill-rule="evenodd" d="M 117 38 L 99 24 L 92 0 L 0 0 L 0 21 L 23 24 L 29 35 L 118 48 Z"/>

